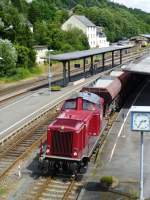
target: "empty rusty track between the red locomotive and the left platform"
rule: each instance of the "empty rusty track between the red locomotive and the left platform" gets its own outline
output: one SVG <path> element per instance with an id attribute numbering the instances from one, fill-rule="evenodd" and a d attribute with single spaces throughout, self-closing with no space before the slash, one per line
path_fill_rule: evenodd
<path id="1" fill-rule="evenodd" d="M 24 131 L 22 130 L 0 146 L 0 181 L 46 139 L 47 126 L 55 117 L 54 107 L 45 114 L 41 122 L 39 118 L 34 126 L 29 123 Z"/>

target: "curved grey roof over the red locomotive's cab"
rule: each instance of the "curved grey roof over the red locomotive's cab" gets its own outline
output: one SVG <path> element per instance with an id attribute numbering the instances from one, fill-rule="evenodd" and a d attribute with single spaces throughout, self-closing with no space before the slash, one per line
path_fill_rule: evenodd
<path id="1" fill-rule="evenodd" d="M 99 105 L 100 104 L 100 97 L 94 93 L 91 92 L 79 92 L 74 95 L 72 95 L 71 99 L 77 99 L 81 97 L 84 100 L 87 100 L 89 102 L 92 102 L 94 104 Z"/>

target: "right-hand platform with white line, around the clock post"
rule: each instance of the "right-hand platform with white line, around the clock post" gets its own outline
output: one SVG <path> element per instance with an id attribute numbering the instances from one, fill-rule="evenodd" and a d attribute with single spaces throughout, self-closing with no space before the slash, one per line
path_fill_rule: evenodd
<path id="1" fill-rule="evenodd" d="M 109 131 L 106 144 L 99 155 L 92 173 L 87 181 L 85 189 L 81 192 L 82 200 L 88 199 L 112 199 L 116 200 L 128 194 L 139 194 L 140 181 L 140 134 L 133 134 L 130 130 L 130 108 L 132 105 L 150 105 L 150 80 L 128 100 L 122 108 L 117 119 Z M 149 146 L 150 135 L 144 135 L 144 198 L 150 197 L 150 159 Z M 100 178 L 103 176 L 115 176 L 119 185 L 113 192 L 100 189 Z M 114 195 L 115 194 L 115 195 Z M 126 199 L 128 199 L 126 197 Z"/>

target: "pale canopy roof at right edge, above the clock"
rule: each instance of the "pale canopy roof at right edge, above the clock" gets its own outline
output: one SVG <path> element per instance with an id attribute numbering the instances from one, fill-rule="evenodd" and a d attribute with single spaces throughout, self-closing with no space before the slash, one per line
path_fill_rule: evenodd
<path id="1" fill-rule="evenodd" d="M 124 71 L 140 74 L 150 74 L 150 56 L 143 58 L 138 63 L 130 63 L 122 67 Z"/>

